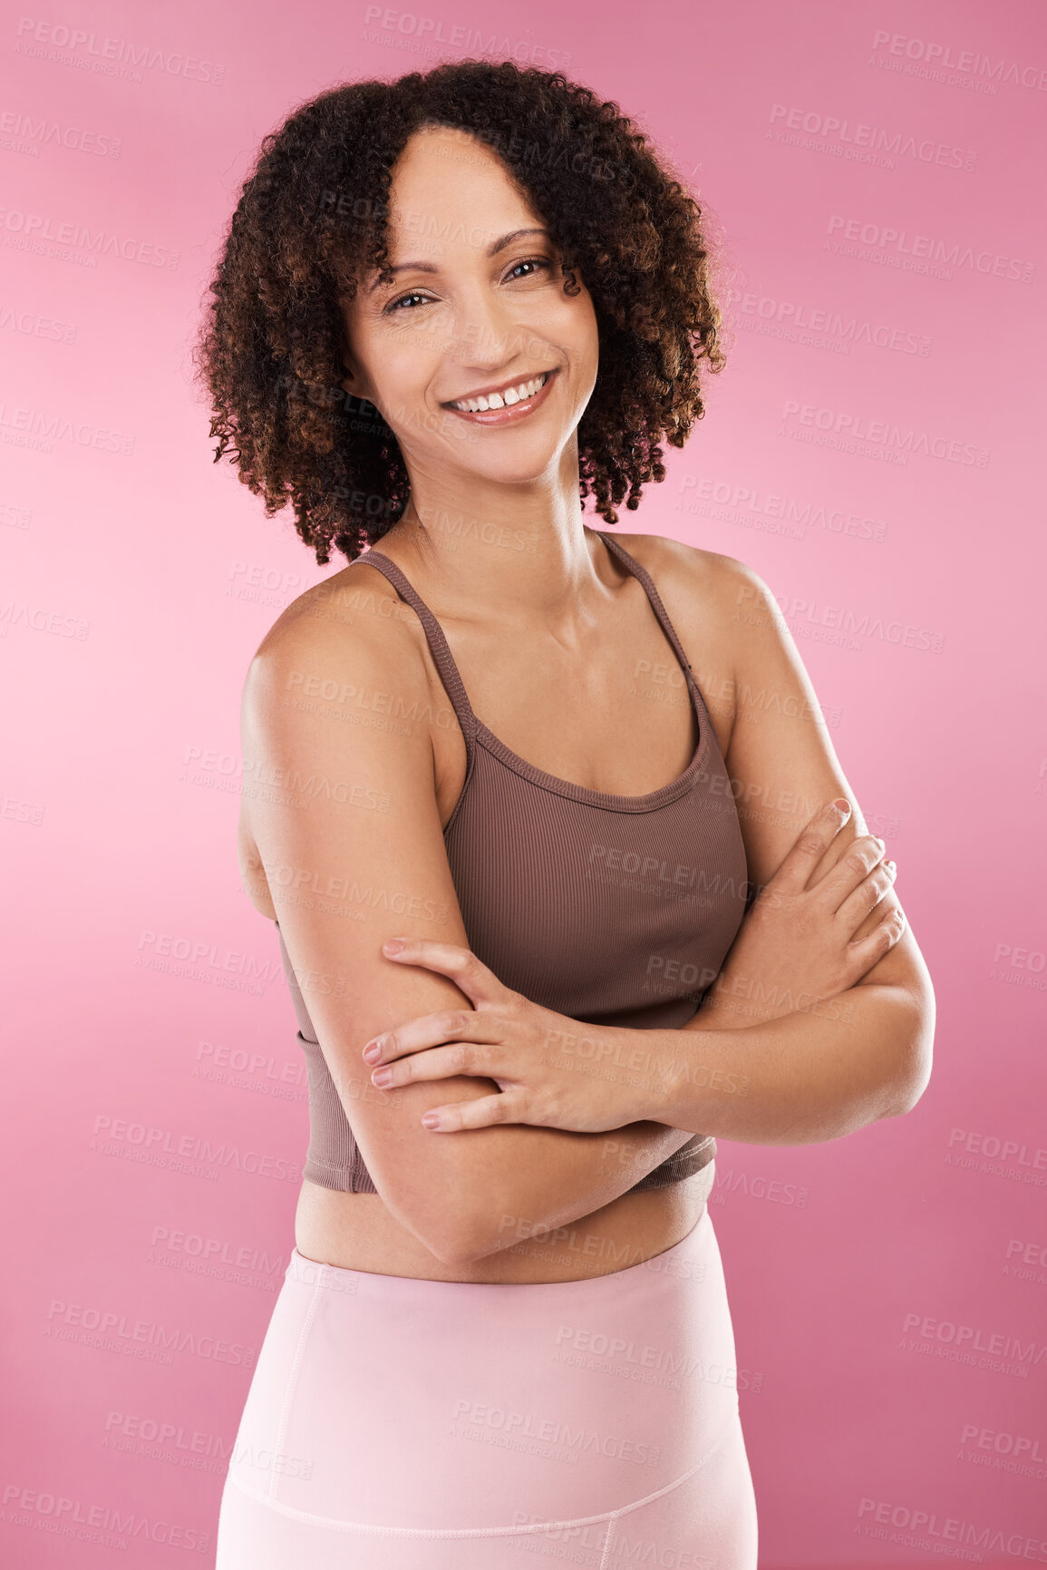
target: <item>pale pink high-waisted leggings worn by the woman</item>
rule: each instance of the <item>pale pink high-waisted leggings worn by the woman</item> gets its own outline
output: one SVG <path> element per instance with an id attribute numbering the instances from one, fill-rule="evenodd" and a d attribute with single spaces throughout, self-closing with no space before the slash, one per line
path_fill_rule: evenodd
<path id="1" fill-rule="evenodd" d="M 579 1281 L 421 1281 L 294 1250 L 229 1463 L 215 1570 L 543 1559 L 755 1570 L 708 1210 L 666 1253 Z"/>

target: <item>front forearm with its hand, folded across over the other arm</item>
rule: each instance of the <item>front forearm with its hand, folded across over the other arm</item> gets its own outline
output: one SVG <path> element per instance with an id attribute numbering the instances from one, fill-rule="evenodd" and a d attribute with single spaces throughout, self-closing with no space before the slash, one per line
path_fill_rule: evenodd
<path id="1" fill-rule="evenodd" d="M 389 1090 L 487 1080 L 493 1094 L 427 1108 L 435 1132 L 529 1124 L 598 1135 L 640 1118 L 808 1145 L 909 1112 L 929 1074 L 932 1002 L 895 981 L 859 983 L 821 1013 L 771 1008 L 739 1025 L 722 1005 L 681 1030 L 631 1030 L 564 1019 L 504 988 L 465 947 L 408 939 L 391 958 L 454 978 L 472 1003 L 408 1020 L 363 1052 L 377 1064 L 372 1083 Z"/>

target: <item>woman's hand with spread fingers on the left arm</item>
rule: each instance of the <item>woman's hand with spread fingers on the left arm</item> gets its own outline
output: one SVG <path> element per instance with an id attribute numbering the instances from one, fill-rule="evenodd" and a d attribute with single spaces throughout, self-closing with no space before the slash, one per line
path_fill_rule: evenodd
<path id="1" fill-rule="evenodd" d="M 392 953 L 389 945 L 402 947 Z M 389 939 L 388 959 L 438 970 L 474 1003 L 472 1010 L 441 1010 L 375 1036 L 363 1049 L 364 1061 L 380 1064 L 370 1079 L 380 1090 L 419 1080 L 471 1074 L 493 1079 L 501 1094 L 455 1101 L 424 1113 L 422 1124 L 440 1134 L 483 1129 L 499 1123 L 606 1134 L 642 1115 L 629 1101 L 623 1069 L 644 1063 L 611 1063 L 620 1046 L 614 1031 L 582 1025 L 502 986 L 493 970 L 458 944 L 425 937 Z M 631 1057 L 637 1057 L 634 1052 Z M 639 1052 L 647 1060 L 647 1052 Z"/>

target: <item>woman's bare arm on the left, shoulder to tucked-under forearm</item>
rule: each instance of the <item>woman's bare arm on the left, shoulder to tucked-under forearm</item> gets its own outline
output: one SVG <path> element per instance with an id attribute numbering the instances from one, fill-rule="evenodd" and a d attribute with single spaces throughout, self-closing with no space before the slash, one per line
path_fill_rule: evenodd
<path id="1" fill-rule="evenodd" d="M 361 579 L 377 578 L 355 568 Z M 243 755 L 253 779 L 251 831 L 287 953 L 320 1047 L 380 1198 L 438 1259 L 476 1258 L 493 1218 L 526 1215 L 559 1226 L 609 1204 L 689 1138 L 629 1119 L 606 1135 L 515 1126 L 436 1140 L 421 1115 L 451 1091 L 494 1090 L 458 1075 L 399 1094 L 377 1091 L 364 1042 L 413 1014 L 469 1008 L 454 981 L 405 970 L 381 955 L 410 933 L 468 944 L 447 865 L 424 722 L 359 724 L 377 714 L 339 708 L 337 694 L 383 694 L 381 713 L 425 714 L 429 677 L 392 600 L 359 582 L 278 623 L 243 692 Z M 380 606 L 385 604 L 385 611 Z M 413 612 L 407 611 L 408 617 Z M 316 694 L 316 696 L 311 696 Z M 446 703 L 446 697 L 441 697 Z M 347 717 L 348 716 L 348 717 Z"/>

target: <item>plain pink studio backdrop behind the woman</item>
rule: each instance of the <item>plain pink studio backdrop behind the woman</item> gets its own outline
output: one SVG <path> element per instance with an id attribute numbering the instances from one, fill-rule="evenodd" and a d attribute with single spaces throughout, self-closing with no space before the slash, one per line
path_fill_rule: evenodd
<path id="1" fill-rule="evenodd" d="M 213 1559 L 308 1118 L 240 688 L 344 562 L 213 466 L 188 345 L 259 138 L 477 53 L 620 102 L 716 215 L 728 367 L 622 528 L 772 587 L 937 989 L 907 1118 L 720 1141 L 761 1565 L 1047 1562 L 1042 6 L 88 0 L 0 36 L 3 1564 Z"/>

